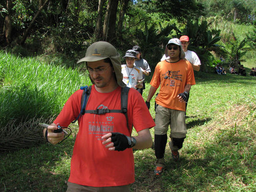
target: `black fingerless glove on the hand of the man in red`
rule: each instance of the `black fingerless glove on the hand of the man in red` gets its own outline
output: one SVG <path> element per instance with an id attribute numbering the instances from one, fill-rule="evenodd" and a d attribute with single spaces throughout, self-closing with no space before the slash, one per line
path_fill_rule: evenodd
<path id="1" fill-rule="evenodd" d="M 130 148 L 127 136 L 121 133 L 112 133 L 111 141 L 114 143 L 115 151 L 123 151 L 126 148 Z"/>

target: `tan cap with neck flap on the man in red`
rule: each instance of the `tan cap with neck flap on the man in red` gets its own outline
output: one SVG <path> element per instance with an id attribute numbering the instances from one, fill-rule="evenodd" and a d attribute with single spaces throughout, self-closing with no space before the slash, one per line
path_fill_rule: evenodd
<path id="1" fill-rule="evenodd" d="M 87 48 L 86 56 L 78 60 L 77 63 L 82 61 L 98 61 L 105 58 L 110 58 L 119 86 L 125 87 L 126 84 L 123 83 L 123 74 L 121 72 L 120 54 L 117 52 L 116 48 L 112 46 L 109 42 L 94 42 Z"/>

